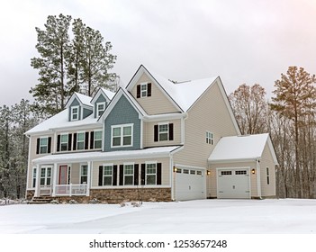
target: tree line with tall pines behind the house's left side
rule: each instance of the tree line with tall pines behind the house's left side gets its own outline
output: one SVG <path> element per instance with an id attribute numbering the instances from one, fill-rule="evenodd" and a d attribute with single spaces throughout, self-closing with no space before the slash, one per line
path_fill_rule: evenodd
<path id="1" fill-rule="evenodd" d="M 64 110 L 74 92 L 93 96 L 99 87 L 114 90 L 118 82 L 111 72 L 116 60 L 111 42 L 81 19 L 49 15 L 44 29 L 35 31 L 38 56 L 31 58 L 31 66 L 39 78 L 30 90 L 34 102 L 0 106 L 0 198 L 24 197 L 27 130 Z"/>

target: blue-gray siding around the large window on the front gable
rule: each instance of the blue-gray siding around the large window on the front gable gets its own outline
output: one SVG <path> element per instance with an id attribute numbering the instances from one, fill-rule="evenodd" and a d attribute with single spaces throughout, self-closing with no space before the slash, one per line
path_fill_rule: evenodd
<path id="1" fill-rule="evenodd" d="M 131 147 L 111 148 L 111 126 L 133 123 L 133 143 Z M 122 95 L 104 121 L 104 150 L 140 149 L 140 119 L 127 98 Z"/>

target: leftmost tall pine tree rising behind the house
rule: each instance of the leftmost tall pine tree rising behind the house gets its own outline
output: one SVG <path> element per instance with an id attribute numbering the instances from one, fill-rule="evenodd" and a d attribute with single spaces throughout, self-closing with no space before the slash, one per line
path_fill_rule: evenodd
<path id="1" fill-rule="evenodd" d="M 32 58 L 31 66 L 39 69 L 39 84 L 31 89 L 36 108 L 47 114 L 64 109 L 67 94 L 66 56 L 68 51 L 68 28 L 71 16 L 59 14 L 48 16 L 45 30 L 35 28 L 38 43 L 36 49 L 41 57 Z"/>

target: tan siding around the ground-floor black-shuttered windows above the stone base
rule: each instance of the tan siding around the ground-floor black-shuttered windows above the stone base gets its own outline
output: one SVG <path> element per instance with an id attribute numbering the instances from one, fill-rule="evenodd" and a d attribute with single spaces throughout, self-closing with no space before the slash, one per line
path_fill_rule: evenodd
<path id="1" fill-rule="evenodd" d="M 150 161 L 157 161 L 157 163 L 161 163 L 161 185 L 170 185 L 170 162 L 169 158 L 143 158 L 143 159 L 131 159 L 131 160 L 122 160 L 122 161 L 104 161 L 104 162 L 93 162 L 92 169 L 92 187 L 98 186 L 98 178 L 99 178 L 99 166 L 103 166 L 105 164 L 113 164 L 118 167 L 118 177 L 120 176 L 119 169 L 120 165 L 124 163 L 134 163 L 134 164 L 144 164 Z M 122 185 L 120 186 L 122 187 Z M 135 186 L 136 187 L 136 186 Z"/>

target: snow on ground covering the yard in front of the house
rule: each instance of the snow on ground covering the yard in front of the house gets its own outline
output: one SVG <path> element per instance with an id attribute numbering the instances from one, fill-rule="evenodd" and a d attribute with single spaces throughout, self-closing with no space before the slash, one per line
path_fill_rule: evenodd
<path id="1" fill-rule="evenodd" d="M 0 234 L 315 234 L 316 200 L 0 207 Z"/>

